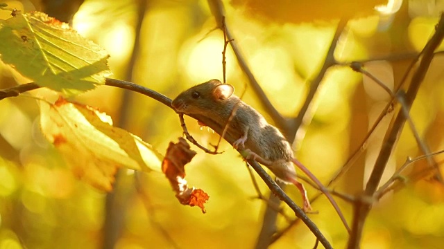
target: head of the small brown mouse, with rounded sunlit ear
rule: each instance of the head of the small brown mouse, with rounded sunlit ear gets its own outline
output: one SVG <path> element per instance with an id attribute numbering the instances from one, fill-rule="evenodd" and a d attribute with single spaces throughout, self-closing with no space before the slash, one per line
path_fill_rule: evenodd
<path id="1" fill-rule="evenodd" d="M 232 85 L 222 84 L 219 80 L 210 80 L 183 91 L 171 105 L 182 113 L 207 115 L 208 112 L 223 109 L 233 92 Z"/>

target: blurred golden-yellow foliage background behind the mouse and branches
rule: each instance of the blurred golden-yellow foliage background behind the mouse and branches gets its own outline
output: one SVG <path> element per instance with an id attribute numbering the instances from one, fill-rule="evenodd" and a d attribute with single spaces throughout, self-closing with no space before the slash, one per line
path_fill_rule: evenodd
<path id="1" fill-rule="evenodd" d="M 427 12 L 418 3 L 409 6 L 411 2 L 418 1 L 404 1 L 392 21 L 382 20 L 374 12 L 373 6 L 382 1 L 275 1 L 271 5 L 270 1 L 236 0 L 225 1 L 225 8 L 236 42 L 266 95 L 285 116 L 295 116 L 309 81 L 316 77 L 325 59 L 341 12 L 355 19 L 336 48 L 339 62 L 388 55 L 395 58 L 400 52 L 421 50 L 438 20 L 435 9 Z M 40 1 L 0 3 L 25 12 L 42 9 Z M 9 15 L 0 11 L 1 19 Z M 151 0 L 147 2 L 141 30 L 135 30 L 136 21 L 137 1 L 87 0 L 74 16 L 73 25 L 80 34 L 108 50 L 115 78 L 125 79 L 136 49 L 131 68 L 133 82 L 170 98 L 194 84 L 222 78 L 223 35 L 219 30 L 210 32 L 216 22 L 206 1 Z M 381 26 L 383 21 L 389 28 Z M 141 46 L 133 48 L 138 32 Z M 443 148 L 443 63 L 442 57 L 434 59 L 411 110 L 420 136 L 429 142 L 432 151 Z M 382 75 L 393 88 L 408 64 L 408 60 L 401 59 L 375 62 L 368 70 Z M 227 53 L 227 78 L 236 93 L 246 89 L 245 102 L 264 112 L 231 50 Z M 28 80 L 1 64 L 0 89 L 14 86 L 15 82 Z M 98 107 L 119 120 L 123 115 L 119 111 L 122 93 L 121 89 L 100 86 L 80 95 L 77 101 Z M 31 94 L 45 98 L 52 93 L 38 89 Z M 307 127 L 305 139 L 296 145 L 298 158 L 321 181 L 329 181 L 357 148 L 387 101 L 388 96 L 376 84 L 347 66 L 330 68 L 314 100 L 314 120 Z M 165 151 L 170 141 L 181 136 L 178 117 L 171 109 L 142 95 L 133 95 L 128 104 L 129 120 L 123 128 L 157 151 Z M 0 248 L 101 248 L 105 193 L 78 181 L 64 158 L 44 140 L 36 121 L 39 111 L 35 100 L 1 100 L 0 110 Z M 367 150 L 341 178 L 336 190 L 346 194 L 362 190 L 390 118 L 384 118 L 368 141 Z M 216 134 L 200 130 L 195 120 L 186 121 L 201 144 L 217 141 Z M 253 248 L 266 203 L 253 198 L 257 194 L 239 155 L 226 142 L 221 149 L 225 153 L 217 156 L 198 151 L 187 166 L 187 181 L 210 195 L 206 214 L 180 205 L 162 174 L 123 172 L 128 177 L 118 187 L 128 196 L 121 200 L 126 210 L 120 214 L 123 228 L 115 248 Z M 407 156 L 420 154 L 406 125 L 382 183 Z M 436 156 L 438 163 L 443 159 L 444 156 Z M 405 174 L 415 174 L 426 167 L 425 161 L 418 161 Z M 139 177 L 133 181 L 133 176 Z M 366 222 L 361 248 L 442 246 L 444 188 L 427 180 L 391 192 L 375 205 Z M 267 192 L 261 181 L 259 188 Z M 287 192 L 300 204 L 294 187 L 287 187 Z M 308 193 L 311 196 L 316 190 L 308 187 Z M 339 204 L 351 221 L 350 203 L 339 200 Z M 310 214 L 310 218 L 334 248 L 344 248 L 348 234 L 332 207 L 323 198 L 312 206 L 319 214 Z M 284 212 L 292 216 L 287 207 Z M 278 228 L 287 224 L 280 216 Z M 311 248 L 314 241 L 305 225 L 296 225 L 271 248 Z"/>

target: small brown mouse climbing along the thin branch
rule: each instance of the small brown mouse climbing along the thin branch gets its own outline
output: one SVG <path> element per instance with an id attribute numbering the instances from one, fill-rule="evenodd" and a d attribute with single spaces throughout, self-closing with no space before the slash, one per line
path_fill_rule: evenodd
<path id="1" fill-rule="evenodd" d="M 237 138 L 232 144 L 235 149 L 268 167 L 280 181 L 296 185 L 302 194 L 302 209 L 311 210 L 307 191 L 296 179 L 290 143 L 262 114 L 234 95 L 234 86 L 210 80 L 183 91 L 171 105 L 177 112 L 202 115 L 226 127 Z"/>

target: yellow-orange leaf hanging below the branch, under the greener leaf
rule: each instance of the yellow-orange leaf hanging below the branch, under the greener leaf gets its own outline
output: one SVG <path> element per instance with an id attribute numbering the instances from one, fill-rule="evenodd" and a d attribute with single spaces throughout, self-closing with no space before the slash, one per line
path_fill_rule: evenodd
<path id="1" fill-rule="evenodd" d="M 110 116 L 60 98 L 40 102 L 42 133 L 67 160 L 76 176 L 110 191 L 119 167 L 160 172 L 162 158 L 141 138 L 113 127 Z"/>

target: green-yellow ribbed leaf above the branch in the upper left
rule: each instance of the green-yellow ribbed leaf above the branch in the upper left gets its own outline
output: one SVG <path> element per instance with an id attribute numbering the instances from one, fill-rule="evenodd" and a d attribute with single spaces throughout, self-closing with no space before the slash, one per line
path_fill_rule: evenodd
<path id="1" fill-rule="evenodd" d="M 42 12 L 0 20 L 0 58 L 40 86 L 75 95 L 110 75 L 108 53 Z"/>

